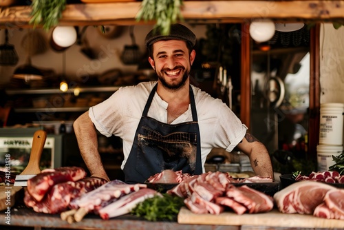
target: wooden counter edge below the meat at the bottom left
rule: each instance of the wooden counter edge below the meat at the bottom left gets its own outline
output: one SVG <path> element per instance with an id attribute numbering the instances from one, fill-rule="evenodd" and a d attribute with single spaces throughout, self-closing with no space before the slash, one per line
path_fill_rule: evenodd
<path id="1" fill-rule="evenodd" d="M 6 224 L 5 210 L 0 212 L 1 226 L 9 227 Z M 12 207 L 10 213 L 10 227 L 34 227 L 35 230 L 41 229 L 111 229 L 111 230 L 239 230 L 237 226 L 225 225 L 203 225 L 203 224 L 178 224 L 178 222 L 151 222 L 136 216 L 125 215 L 110 220 L 103 220 L 99 216 L 88 214 L 80 222 L 69 224 L 61 220 L 60 215 L 36 213 L 32 209 L 23 206 Z"/>

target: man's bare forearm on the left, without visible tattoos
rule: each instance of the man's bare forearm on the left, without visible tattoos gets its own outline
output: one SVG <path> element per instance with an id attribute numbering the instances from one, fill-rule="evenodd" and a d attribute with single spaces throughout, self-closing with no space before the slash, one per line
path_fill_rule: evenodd
<path id="1" fill-rule="evenodd" d="M 88 112 L 85 112 L 74 121 L 73 128 L 78 140 L 80 154 L 83 156 L 91 176 L 109 181 L 98 152 L 97 132 Z"/>

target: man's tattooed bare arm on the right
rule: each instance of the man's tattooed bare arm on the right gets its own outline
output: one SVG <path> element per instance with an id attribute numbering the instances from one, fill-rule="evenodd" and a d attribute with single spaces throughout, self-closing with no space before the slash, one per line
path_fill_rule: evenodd
<path id="1" fill-rule="evenodd" d="M 268 149 L 266 149 L 263 143 L 247 132 L 241 143 L 237 145 L 237 148 L 250 158 L 255 174 L 274 178 Z"/>

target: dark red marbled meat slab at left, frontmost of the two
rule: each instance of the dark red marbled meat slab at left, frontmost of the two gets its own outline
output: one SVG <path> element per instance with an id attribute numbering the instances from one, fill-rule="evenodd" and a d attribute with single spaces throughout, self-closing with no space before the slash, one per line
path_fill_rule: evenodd
<path id="1" fill-rule="evenodd" d="M 92 191 L 107 181 L 101 178 L 83 178 L 82 180 L 62 182 L 54 185 L 41 201 L 36 201 L 28 191 L 25 191 L 24 202 L 28 207 L 39 213 L 61 213 L 67 210 L 69 202 L 89 191 Z"/>

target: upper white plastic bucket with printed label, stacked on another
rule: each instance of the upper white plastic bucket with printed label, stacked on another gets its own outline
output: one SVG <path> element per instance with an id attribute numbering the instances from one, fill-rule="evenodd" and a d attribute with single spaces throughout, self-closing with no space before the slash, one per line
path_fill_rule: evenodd
<path id="1" fill-rule="evenodd" d="M 343 112 L 343 103 L 321 104 L 319 144 L 343 145 Z"/>

